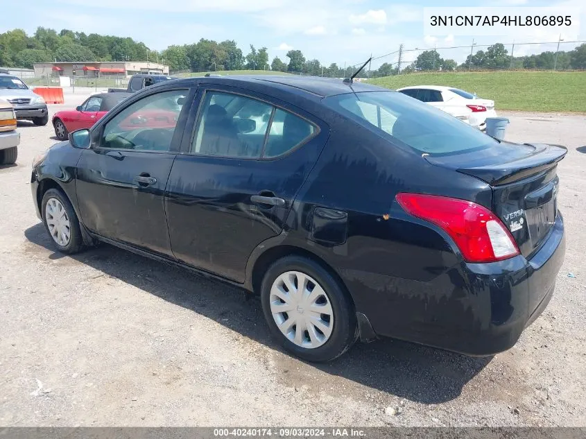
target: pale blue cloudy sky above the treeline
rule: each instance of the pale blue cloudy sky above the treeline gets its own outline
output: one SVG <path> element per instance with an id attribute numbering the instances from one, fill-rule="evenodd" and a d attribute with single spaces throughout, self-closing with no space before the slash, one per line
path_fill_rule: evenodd
<path id="1" fill-rule="evenodd" d="M 551 6 L 576 10 L 583 25 L 562 32 L 560 50 L 571 50 L 571 40 L 586 40 L 586 6 L 583 0 L 485 0 L 483 6 Z M 513 28 L 507 35 L 427 35 L 424 33 L 425 7 L 458 7 L 473 4 L 463 0 L 28 0 L 15 7 L 15 12 L 0 15 L 0 33 L 23 28 L 29 35 L 37 26 L 62 28 L 85 33 L 132 37 L 150 49 L 162 50 L 171 44 L 189 44 L 200 38 L 235 40 L 243 53 L 250 44 L 266 46 L 269 62 L 299 49 L 305 58 L 317 58 L 322 64 L 331 62 L 352 65 L 393 53 L 404 44 L 404 60 L 414 60 L 424 49 L 438 47 L 442 58 L 463 62 L 470 52 L 472 39 L 478 49 L 484 44 L 502 42 L 510 53 L 527 55 L 555 51 L 559 29 Z M 16 11 L 18 8 L 18 11 Z M 520 42 L 555 42 L 521 45 Z M 442 49 L 464 46 L 462 49 Z M 397 53 L 379 58 L 396 62 Z"/>

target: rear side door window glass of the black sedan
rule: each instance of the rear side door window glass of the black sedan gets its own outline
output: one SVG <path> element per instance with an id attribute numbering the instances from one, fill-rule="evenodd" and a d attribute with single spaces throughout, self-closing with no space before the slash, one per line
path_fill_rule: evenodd
<path id="1" fill-rule="evenodd" d="M 312 123 L 269 103 L 236 94 L 206 92 L 191 153 L 273 158 L 307 141 Z"/>

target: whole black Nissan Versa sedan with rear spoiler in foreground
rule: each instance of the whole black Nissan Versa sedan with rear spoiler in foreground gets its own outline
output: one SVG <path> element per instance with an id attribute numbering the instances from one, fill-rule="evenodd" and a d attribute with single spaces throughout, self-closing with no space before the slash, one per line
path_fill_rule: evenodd
<path id="1" fill-rule="evenodd" d="M 378 336 L 490 355 L 553 294 L 566 152 L 363 83 L 210 76 L 71 133 L 31 189 L 60 251 L 104 241 L 258 293 L 303 359 Z"/>

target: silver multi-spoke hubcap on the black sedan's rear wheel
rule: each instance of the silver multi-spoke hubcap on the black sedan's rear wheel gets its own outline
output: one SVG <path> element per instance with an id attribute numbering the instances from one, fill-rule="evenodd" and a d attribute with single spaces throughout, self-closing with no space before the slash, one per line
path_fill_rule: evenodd
<path id="1" fill-rule="evenodd" d="M 287 271 L 273 282 L 269 300 L 277 327 L 295 345 L 314 349 L 328 341 L 334 329 L 334 311 L 314 279 Z"/>

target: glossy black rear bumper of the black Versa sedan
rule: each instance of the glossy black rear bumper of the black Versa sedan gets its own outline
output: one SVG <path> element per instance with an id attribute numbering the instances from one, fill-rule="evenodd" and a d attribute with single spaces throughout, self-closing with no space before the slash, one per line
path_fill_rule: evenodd
<path id="1" fill-rule="evenodd" d="M 357 311 L 379 336 L 472 356 L 497 354 L 515 345 L 544 311 L 564 256 L 564 223 L 558 214 L 548 239 L 530 260 L 519 255 L 490 264 L 463 263 L 432 282 L 404 284 L 417 302 L 406 306 L 397 299 L 393 309 L 380 309 L 379 303 L 377 311 Z"/>

